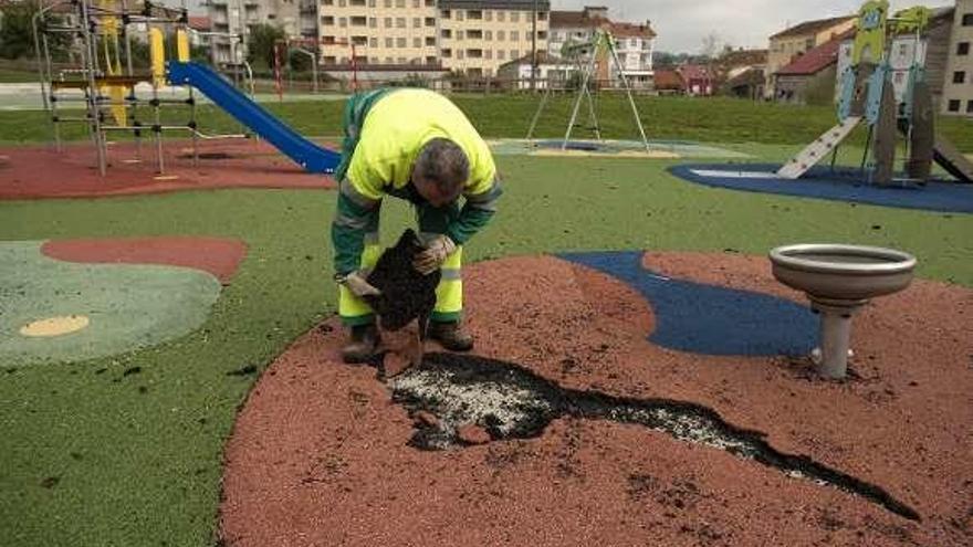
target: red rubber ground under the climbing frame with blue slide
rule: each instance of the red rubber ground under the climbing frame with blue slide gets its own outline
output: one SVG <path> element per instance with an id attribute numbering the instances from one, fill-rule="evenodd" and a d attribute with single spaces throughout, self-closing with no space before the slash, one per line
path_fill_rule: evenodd
<path id="1" fill-rule="evenodd" d="M 0 199 L 97 198 L 215 188 L 336 188 L 326 175 L 304 172 L 264 141 L 199 141 L 192 165 L 189 140 L 164 145 L 165 173 L 157 172 L 155 144 L 114 143 L 102 177 L 91 144 L 0 149 Z"/>

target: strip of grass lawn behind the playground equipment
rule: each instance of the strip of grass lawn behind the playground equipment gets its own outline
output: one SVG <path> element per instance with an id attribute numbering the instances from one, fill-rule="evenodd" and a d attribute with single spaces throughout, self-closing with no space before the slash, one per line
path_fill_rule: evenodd
<path id="1" fill-rule="evenodd" d="M 523 138 L 538 104 L 536 97 L 527 95 L 457 95 L 452 98 L 484 137 Z M 810 143 L 836 123 L 834 108 L 829 107 L 690 97 L 639 97 L 638 104 L 646 133 L 652 139 L 799 146 Z M 304 135 L 341 134 L 344 102 L 268 103 L 265 106 Z M 537 136 L 564 136 L 571 106 L 568 96 L 551 101 L 537 125 Z M 638 138 L 638 129 L 622 95 L 599 96 L 598 111 L 606 138 Z M 167 123 L 186 124 L 189 120 L 186 107 L 174 106 L 164 113 Z M 142 116 L 146 118 L 149 114 L 145 109 Z M 586 123 L 584 116 L 579 122 Z M 0 143 L 45 143 L 51 138 L 46 115 L 39 111 L 0 112 L 0 126 L 3 127 Z M 211 105 L 199 108 L 199 127 L 206 133 L 239 130 L 236 122 Z M 86 132 L 79 124 L 65 124 L 62 129 L 67 139 L 83 138 Z M 941 117 L 939 130 L 960 149 L 973 152 L 973 120 Z M 578 129 L 576 135 L 585 138 L 590 134 Z M 121 137 L 113 134 L 113 138 Z M 856 130 L 849 143 L 862 145 L 865 129 Z"/>

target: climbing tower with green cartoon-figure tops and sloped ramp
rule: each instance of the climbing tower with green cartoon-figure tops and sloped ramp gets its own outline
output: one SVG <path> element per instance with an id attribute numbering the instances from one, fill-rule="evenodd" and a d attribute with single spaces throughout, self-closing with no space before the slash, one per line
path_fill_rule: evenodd
<path id="1" fill-rule="evenodd" d="M 838 125 L 828 129 L 797 156 L 784 164 L 777 176 L 798 179 L 812 167 L 831 155 L 861 123 L 868 127 L 868 139 L 861 159 L 867 180 L 877 186 L 909 182 L 924 183 L 930 178 L 933 160 L 959 181 L 973 181 L 973 166 L 944 137 L 937 136 L 934 113 L 925 69 L 919 60 L 919 44 L 927 30 L 930 10 L 909 8 L 888 17 L 887 0 L 869 0 L 861 6 L 856 21 L 851 64 L 840 80 Z M 894 36 L 912 35 L 916 46 L 902 101 L 896 98 L 890 42 Z M 907 179 L 894 178 L 897 134 L 902 133 L 908 147 Z"/>

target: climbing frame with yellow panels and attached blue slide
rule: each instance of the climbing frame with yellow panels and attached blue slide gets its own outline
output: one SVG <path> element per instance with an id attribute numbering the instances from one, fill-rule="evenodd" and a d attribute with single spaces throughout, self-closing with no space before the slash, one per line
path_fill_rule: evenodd
<path id="1" fill-rule="evenodd" d="M 188 132 L 192 138 L 193 161 L 198 160 L 197 140 L 200 138 L 232 138 L 243 135 L 206 135 L 197 125 L 197 99 L 193 90 L 200 91 L 217 106 L 233 116 L 243 126 L 270 141 L 280 151 L 311 172 L 331 172 L 337 166 L 339 155 L 322 148 L 304 138 L 270 114 L 252 98 L 237 90 L 211 69 L 190 62 L 188 10 L 167 8 L 145 0 L 138 9 L 130 9 L 127 0 L 73 0 L 42 6 L 34 15 L 34 45 L 40 67 L 41 92 L 44 107 L 50 114 L 53 137 L 60 149 L 60 124 L 77 122 L 87 126 L 97 154 L 98 170 L 107 169 L 107 135 L 112 132 L 130 132 L 139 143 L 143 132 L 153 134 L 156 144 L 158 172 L 165 170 L 163 155 L 164 132 Z M 59 10 L 73 10 L 76 24 L 67 24 L 54 17 Z M 132 61 L 132 24 L 148 27 L 150 66 L 136 72 Z M 67 33 L 80 45 L 81 66 L 57 71 L 55 77 L 51 63 L 48 36 Z M 165 34 L 175 42 L 175 60 L 166 60 Z M 119 41 L 119 36 L 122 41 Z M 124 41 L 125 67 L 122 66 Z M 136 96 L 136 85 L 151 86 L 151 98 Z M 164 98 L 159 91 L 164 85 L 185 85 L 188 98 Z M 63 90 L 80 90 L 83 97 L 59 95 Z M 63 116 L 57 111 L 61 102 L 83 101 L 83 117 Z M 151 123 L 139 119 L 139 105 L 153 109 Z M 190 115 L 185 125 L 164 125 L 160 111 L 166 105 L 188 105 Z M 140 149 L 137 147 L 137 150 Z M 134 161 L 139 161 L 136 158 Z"/>

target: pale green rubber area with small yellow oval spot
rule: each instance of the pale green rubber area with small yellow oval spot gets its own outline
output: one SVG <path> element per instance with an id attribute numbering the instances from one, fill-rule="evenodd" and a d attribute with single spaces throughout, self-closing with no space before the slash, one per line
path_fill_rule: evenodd
<path id="1" fill-rule="evenodd" d="M 206 272 L 62 262 L 44 256 L 42 244 L 0 242 L 0 362 L 8 366 L 82 361 L 185 336 L 220 294 Z M 56 319 L 64 317 L 77 318 L 80 328 L 62 332 Z M 42 323 L 32 333 L 40 322 L 48 328 Z"/>

